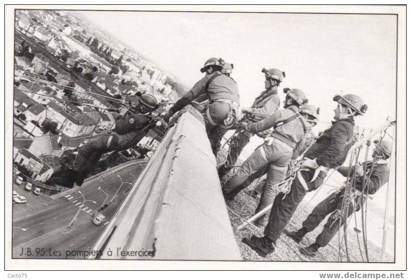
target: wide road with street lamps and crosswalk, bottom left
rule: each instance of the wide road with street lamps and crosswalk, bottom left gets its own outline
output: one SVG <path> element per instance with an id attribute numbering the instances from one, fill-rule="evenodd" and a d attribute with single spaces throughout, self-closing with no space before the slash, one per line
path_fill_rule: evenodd
<path id="1" fill-rule="evenodd" d="M 145 165 L 146 163 L 138 163 L 125 166 L 120 170 L 107 172 L 107 174 L 85 182 L 80 188 L 81 193 L 86 200 L 94 200 L 96 203 L 86 201 L 81 207 L 82 195 L 77 191 L 71 191 L 54 200 L 58 202 L 57 205 L 50 203 L 49 207 L 41 212 L 26 213 L 25 217 L 14 220 L 12 258 L 85 258 L 84 252 L 93 247 L 94 242 L 97 241 L 131 187 L 130 183 L 121 185 L 118 176 L 124 182 L 133 182 L 134 177 L 138 178 Z M 107 193 L 107 200 L 107 196 L 98 190 L 98 187 Z M 112 200 L 112 203 L 101 212 L 106 216 L 106 220 L 96 226 L 92 223 L 93 214 L 98 213 L 98 209 L 105 200 L 107 202 Z M 15 205 L 13 211 L 16 211 L 18 207 L 24 206 Z M 79 207 L 81 210 L 78 218 L 68 229 Z"/>

